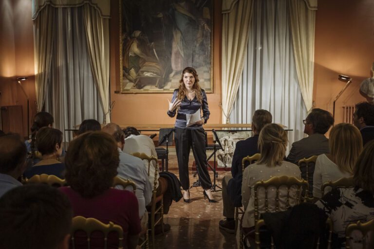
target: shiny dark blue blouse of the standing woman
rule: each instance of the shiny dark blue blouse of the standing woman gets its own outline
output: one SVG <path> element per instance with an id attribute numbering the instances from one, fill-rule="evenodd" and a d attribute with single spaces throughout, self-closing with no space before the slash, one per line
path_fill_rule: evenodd
<path id="1" fill-rule="evenodd" d="M 173 92 L 173 97 L 171 98 L 171 102 L 173 102 L 178 95 L 179 89 L 175 89 Z M 209 119 L 209 108 L 208 108 L 208 101 L 206 99 L 206 93 L 205 90 L 201 89 L 201 94 L 203 95 L 203 101 L 202 104 L 197 100 L 196 96 L 193 98 L 193 100 L 188 100 L 187 96 L 182 100 L 181 104 L 179 105 L 178 113 L 177 113 L 177 119 L 175 120 L 175 127 L 178 128 L 185 128 L 185 129 L 199 129 L 203 127 L 202 125 L 191 125 L 189 127 L 187 126 L 187 121 L 186 121 L 186 114 L 194 114 L 197 110 L 200 108 L 203 110 L 203 118 L 205 120 L 204 124 L 206 124 L 206 121 Z M 168 110 L 168 115 L 172 118 L 176 114 L 176 110 L 174 111 L 169 111 Z"/>

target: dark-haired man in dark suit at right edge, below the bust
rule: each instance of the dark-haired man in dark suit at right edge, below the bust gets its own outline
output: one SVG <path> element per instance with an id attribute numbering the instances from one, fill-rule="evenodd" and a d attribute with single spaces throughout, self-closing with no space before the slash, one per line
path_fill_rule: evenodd
<path id="1" fill-rule="evenodd" d="M 361 102 L 356 104 L 353 124 L 360 130 L 363 145 L 374 139 L 374 104 Z"/>

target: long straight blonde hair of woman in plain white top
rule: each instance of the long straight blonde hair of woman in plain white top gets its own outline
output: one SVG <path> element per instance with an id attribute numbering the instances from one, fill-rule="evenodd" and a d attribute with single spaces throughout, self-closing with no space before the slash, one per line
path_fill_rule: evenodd
<path id="1" fill-rule="evenodd" d="M 329 138 L 331 159 L 341 172 L 353 174 L 355 162 L 362 151 L 360 131 L 351 124 L 335 125 Z"/>

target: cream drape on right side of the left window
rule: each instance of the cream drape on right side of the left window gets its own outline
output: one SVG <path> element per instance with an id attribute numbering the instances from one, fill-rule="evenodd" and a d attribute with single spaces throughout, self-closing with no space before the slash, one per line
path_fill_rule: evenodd
<path id="1" fill-rule="evenodd" d="M 83 5 L 83 18 L 91 69 L 105 115 L 104 123 L 110 123 L 109 19 L 102 18 L 89 4 Z"/>

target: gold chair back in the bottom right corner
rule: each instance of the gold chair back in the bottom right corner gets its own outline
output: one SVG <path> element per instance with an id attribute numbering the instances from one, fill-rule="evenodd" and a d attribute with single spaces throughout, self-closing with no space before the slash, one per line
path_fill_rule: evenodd
<path id="1" fill-rule="evenodd" d="M 361 221 L 357 221 L 357 223 L 351 223 L 345 229 L 345 248 L 351 249 L 351 235 L 353 231 L 360 231 L 362 234 L 362 249 L 369 249 L 374 248 L 374 219 L 369 220 L 368 222 L 361 223 Z M 369 241 L 367 241 L 367 237 L 369 237 Z"/>

